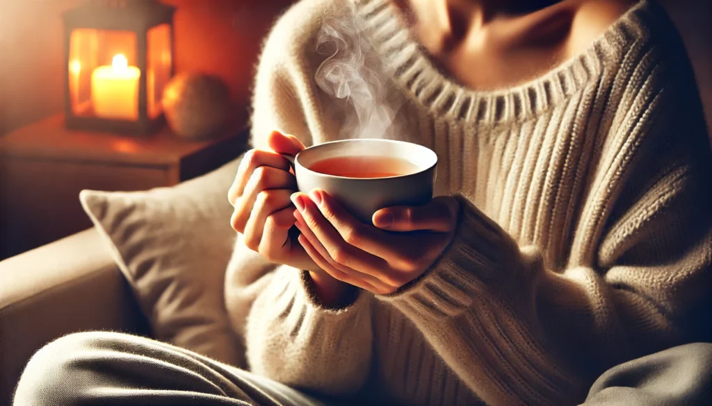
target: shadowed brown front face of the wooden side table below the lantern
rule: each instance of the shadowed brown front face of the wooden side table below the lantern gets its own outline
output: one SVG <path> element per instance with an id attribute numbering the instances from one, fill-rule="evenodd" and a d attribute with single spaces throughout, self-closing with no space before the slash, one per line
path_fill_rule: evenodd
<path id="1" fill-rule="evenodd" d="M 174 183 L 169 167 L 0 157 L 0 259 L 91 226 L 82 189 L 138 191 Z"/>

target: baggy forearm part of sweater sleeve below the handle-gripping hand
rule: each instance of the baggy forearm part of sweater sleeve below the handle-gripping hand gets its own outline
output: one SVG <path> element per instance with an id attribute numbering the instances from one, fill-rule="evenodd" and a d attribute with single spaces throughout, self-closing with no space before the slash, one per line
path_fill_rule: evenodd
<path id="1" fill-rule="evenodd" d="M 343 309 L 321 306 L 308 272 L 281 267 L 257 297 L 246 328 L 254 373 L 328 395 L 362 387 L 371 364 L 372 297 Z"/>

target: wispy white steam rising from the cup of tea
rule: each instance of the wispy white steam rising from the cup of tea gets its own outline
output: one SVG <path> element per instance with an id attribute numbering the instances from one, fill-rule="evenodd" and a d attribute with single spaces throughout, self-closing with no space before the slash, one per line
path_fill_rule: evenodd
<path id="1" fill-rule="evenodd" d="M 392 138 L 392 123 L 404 95 L 387 82 L 390 76 L 352 15 L 323 19 L 316 52 L 326 58 L 316 71 L 317 85 L 345 101 L 342 138 Z"/>

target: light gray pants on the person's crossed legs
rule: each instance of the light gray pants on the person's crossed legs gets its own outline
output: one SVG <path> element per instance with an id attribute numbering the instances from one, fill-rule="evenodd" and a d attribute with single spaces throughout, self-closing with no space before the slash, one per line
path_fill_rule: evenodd
<path id="1" fill-rule="evenodd" d="M 28 363 L 15 406 L 342 405 L 158 341 L 76 333 Z M 585 406 L 712 405 L 712 344 L 697 343 L 618 365 Z"/>

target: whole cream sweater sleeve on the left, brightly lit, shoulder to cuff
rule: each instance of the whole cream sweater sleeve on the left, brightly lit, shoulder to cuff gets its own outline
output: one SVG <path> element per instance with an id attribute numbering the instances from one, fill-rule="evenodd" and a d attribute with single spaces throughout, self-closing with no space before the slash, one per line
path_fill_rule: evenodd
<path id="1" fill-rule="evenodd" d="M 309 72 L 319 2 L 301 1 L 284 14 L 263 48 L 253 97 L 252 144 L 268 149 L 273 129 L 307 146 L 323 139 L 328 117 Z M 316 26 L 316 23 L 313 23 Z M 337 124 L 333 124 L 337 125 Z M 328 309 L 312 294 L 307 272 L 279 267 L 236 240 L 226 274 L 226 306 L 244 337 L 249 368 L 293 386 L 330 395 L 359 390 L 371 363 L 372 296 L 357 294 L 343 309 Z"/>

